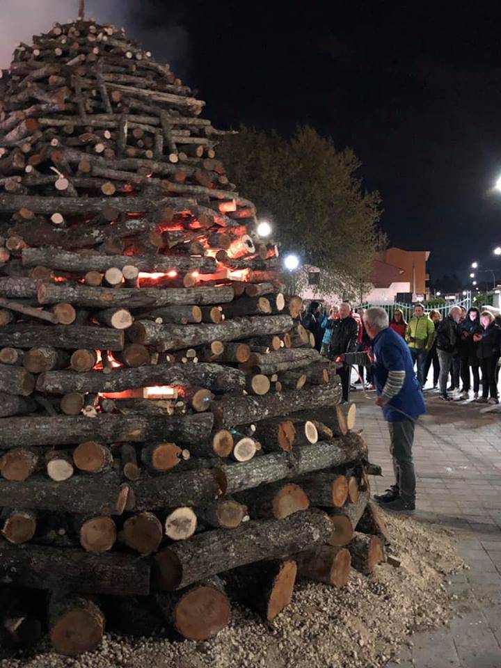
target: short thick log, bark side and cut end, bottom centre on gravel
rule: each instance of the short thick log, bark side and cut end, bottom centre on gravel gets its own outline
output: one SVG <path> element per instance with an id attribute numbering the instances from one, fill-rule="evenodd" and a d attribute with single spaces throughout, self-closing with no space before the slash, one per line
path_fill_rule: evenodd
<path id="1" fill-rule="evenodd" d="M 166 622 L 189 640 L 207 640 L 230 622 L 230 601 L 216 577 L 156 599 Z"/>

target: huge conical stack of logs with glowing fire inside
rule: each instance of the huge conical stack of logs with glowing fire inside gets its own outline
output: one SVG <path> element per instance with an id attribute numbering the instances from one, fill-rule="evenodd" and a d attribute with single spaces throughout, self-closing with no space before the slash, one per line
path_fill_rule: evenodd
<path id="1" fill-rule="evenodd" d="M 205 103 L 83 17 L 1 86 L 0 640 L 204 639 L 232 599 L 271 620 L 296 577 L 371 571 L 354 406 Z"/>

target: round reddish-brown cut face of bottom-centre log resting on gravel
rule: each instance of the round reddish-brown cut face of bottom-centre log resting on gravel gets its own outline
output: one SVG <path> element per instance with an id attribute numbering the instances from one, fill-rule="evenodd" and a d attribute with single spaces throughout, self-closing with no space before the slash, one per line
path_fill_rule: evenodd
<path id="1" fill-rule="evenodd" d="M 185 638 L 206 640 L 230 621 L 230 601 L 222 591 L 200 585 L 182 596 L 174 609 L 174 626 Z"/>

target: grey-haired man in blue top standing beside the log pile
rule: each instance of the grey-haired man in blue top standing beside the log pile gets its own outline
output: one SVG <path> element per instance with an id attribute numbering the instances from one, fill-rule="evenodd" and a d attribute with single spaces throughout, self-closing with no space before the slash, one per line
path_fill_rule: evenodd
<path id="1" fill-rule="evenodd" d="M 372 339 L 376 404 L 383 408 L 388 422 L 395 471 L 395 484 L 374 498 L 387 510 L 409 513 L 415 509 L 412 447 L 415 421 L 425 412 L 422 390 L 406 342 L 388 327 L 388 313 L 383 308 L 369 308 L 364 322 Z"/>

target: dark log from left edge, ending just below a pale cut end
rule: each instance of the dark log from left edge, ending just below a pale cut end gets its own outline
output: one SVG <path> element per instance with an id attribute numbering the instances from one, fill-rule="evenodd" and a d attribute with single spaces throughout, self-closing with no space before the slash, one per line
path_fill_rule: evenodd
<path id="1" fill-rule="evenodd" d="M 8 325 L 0 330 L 0 346 L 20 348 L 54 347 L 75 350 L 79 347 L 122 350 L 124 333 L 105 327 L 54 325 Z"/>

